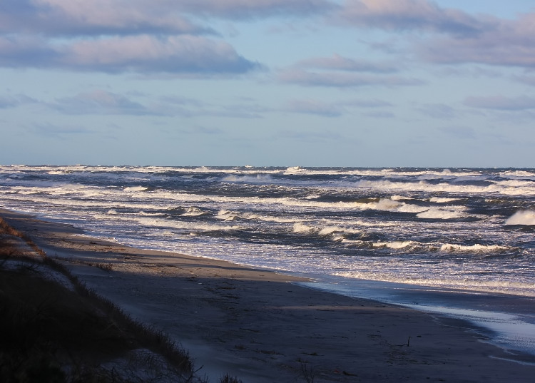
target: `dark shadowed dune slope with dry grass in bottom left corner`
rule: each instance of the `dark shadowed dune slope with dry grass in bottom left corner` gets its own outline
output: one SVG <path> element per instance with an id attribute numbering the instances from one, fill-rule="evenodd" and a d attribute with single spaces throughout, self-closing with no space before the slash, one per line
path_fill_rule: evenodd
<path id="1" fill-rule="evenodd" d="M 1 218 L 0 275 L 1 382 L 203 380 L 167 335 L 88 290 Z"/>

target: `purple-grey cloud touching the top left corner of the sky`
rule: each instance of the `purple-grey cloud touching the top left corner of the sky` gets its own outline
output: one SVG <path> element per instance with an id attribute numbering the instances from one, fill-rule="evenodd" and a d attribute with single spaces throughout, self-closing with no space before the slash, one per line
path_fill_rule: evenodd
<path id="1" fill-rule="evenodd" d="M 213 33 L 188 21 L 169 2 L 155 3 L 158 1 L 2 0 L 0 31 L 51 36 Z"/>

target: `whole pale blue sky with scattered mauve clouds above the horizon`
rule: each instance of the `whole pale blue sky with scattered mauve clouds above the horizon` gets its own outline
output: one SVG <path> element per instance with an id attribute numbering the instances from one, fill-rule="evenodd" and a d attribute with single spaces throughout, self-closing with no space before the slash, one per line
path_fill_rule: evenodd
<path id="1" fill-rule="evenodd" d="M 535 168 L 533 0 L 1 0 L 0 164 Z"/>

